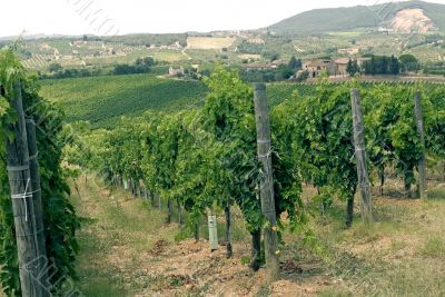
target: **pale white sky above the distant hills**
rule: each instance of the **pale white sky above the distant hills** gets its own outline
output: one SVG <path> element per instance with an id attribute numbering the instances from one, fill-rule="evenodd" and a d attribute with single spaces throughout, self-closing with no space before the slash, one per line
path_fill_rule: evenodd
<path id="1" fill-rule="evenodd" d="M 310 9 L 383 2 L 385 0 L 2 0 L 0 37 L 22 32 L 106 36 L 257 29 Z M 445 0 L 428 2 L 445 4 Z"/>

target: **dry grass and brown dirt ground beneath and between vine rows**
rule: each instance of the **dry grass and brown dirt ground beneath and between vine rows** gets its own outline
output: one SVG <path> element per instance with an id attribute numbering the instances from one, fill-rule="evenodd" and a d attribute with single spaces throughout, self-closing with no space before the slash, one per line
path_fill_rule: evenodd
<path id="1" fill-rule="evenodd" d="M 445 269 L 432 259 L 445 257 L 445 246 L 444 254 L 441 249 L 445 240 L 429 255 L 422 251 L 426 244 L 421 236 L 445 229 L 438 212 L 445 209 L 442 201 L 437 208 L 419 200 L 379 199 L 377 227 L 370 230 L 359 222 L 344 230 L 335 212 L 333 218 L 314 219 L 324 251 L 314 253 L 299 236 L 285 234 L 288 245 L 280 258 L 280 280 L 267 285 L 264 268 L 254 273 L 247 265 L 249 238 L 238 239 L 234 257 L 227 259 L 225 246 L 210 251 L 206 239 L 176 240 L 181 228 L 166 225 L 165 215 L 142 198 L 90 182 L 80 186 L 76 200 L 87 221 L 79 234 L 78 268 L 85 296 L 368 296 L 374 281 L 389 286 L 400 281 L 385 275 L 394 277 L 392 271 L 407 259 L 419 264 L 413 269 L 422 269 L 422 263 L 433 270 Z M 375 276 L 377 280 L 368 281 Z M 395 287 L 390 295 L 402 296 L 403 289 Z M 438 289 L 429 296 L 445 293 Z"/>

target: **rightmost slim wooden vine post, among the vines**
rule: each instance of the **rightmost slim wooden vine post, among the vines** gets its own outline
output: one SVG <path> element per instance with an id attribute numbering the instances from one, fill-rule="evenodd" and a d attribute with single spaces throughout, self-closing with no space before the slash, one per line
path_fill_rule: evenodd
<path id="1" fill-rule="evenodd" d="M 422 156 L 418 160 L 418 191 L 421 199 L 428 199 L 428 188 L 426 181 L 426 152 L 425 152 L 425 135 L 424 135 L 424 117 L 422 115 L 421 92 L 414 95 L 414 113 L 416 116 L 417 133 L 421 138 Z"/>

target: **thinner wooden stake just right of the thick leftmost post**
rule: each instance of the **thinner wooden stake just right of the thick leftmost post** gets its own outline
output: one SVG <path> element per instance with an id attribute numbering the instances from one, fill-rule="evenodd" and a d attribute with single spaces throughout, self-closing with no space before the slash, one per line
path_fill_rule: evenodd
<path id="1" fill-rule="evenodd" d="M 29 169 L 31 174 L 31 186 L 32 186 L 32 202 L 34 208 L 36 218 L 36 230 L 34 240 L 37 242 L 38 253 L 38 269 L 39 269 L 39 281 L 42 284 L 42 296 L 50 296 L 48 283 L 48 257 L 44 238 L 44 226 L 43 226 L 43 206 L 41 200 L 41 187 L 40 187 L 40 174 L 39 174 L 39 161 L 38 150 L 36 140 L 36 123 L 33 120 L 28 119 L 27 123 L 27 140 L 29 149 Z"/>

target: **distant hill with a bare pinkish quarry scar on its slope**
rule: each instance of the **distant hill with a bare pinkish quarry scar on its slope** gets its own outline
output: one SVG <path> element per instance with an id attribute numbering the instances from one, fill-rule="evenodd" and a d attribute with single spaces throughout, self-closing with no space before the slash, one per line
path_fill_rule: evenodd
<path id="1" fill-rule="evenodd" d="M 445 4 L 404 1 L 315 9 L 268 27 L 277 33 L 322 33 L 356 28 L 386 28 L 400 32 L 445 31 Z"/>

